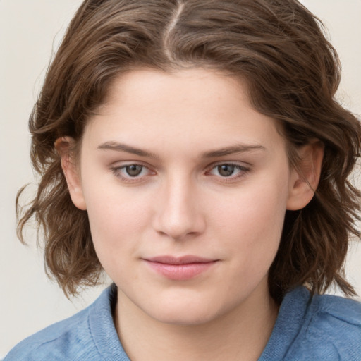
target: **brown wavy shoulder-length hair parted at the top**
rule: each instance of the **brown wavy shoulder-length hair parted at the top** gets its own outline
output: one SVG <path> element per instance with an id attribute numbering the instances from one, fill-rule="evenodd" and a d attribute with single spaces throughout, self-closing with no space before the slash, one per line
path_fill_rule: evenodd
<path id="1" fill-rule="evenodd" d="M 37 194 L 19 207 L 18 235 L 35 217 L 44 236 L 47 273 L 66 295 L 99 281 L 102 266 L 87 212 L 71 202 L 54 142 L 80 144 L 87 118 L 111 82 L 136 68 L 202 67 L 247 82 L 260 113 L 278 119 L 288 157 L 311 140 L 324 144 L 319 187 L 307 206 L 286 212 L 269 290 L 278 302 L 290 288 L 323 293 L 332 283 L 354 295 L 343 264 L 357 235 L 360 192 L 348 181 L 360 154 L 360 122 L 335 99 L 336 51 L 321 21 L 296 0 L 85 0 L 68 27 L 30 116 Z"/>

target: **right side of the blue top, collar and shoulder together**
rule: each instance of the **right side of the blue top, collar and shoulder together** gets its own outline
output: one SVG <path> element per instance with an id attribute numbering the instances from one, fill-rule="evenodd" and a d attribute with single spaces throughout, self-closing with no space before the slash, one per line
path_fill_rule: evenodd
<path id="1" fill-rule="evenodd" d="M 259 361 L 361 361 L 361 304 L 305 287 L 286 294 Z"/>

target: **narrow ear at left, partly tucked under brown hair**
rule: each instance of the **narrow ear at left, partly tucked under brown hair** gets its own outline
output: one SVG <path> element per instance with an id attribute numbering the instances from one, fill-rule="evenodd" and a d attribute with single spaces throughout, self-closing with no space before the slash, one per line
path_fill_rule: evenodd
<path id="1" fill-rule="evenodd" d="M 87 206 L 82 193 L 80 169 L 74 154 L 75 140 L 72 137 L 61 137 L 56 140 L 54 145 L 61 158 L 61 168 L 68 184 L 71 200 L 75 207 L 85 211 Z"/>

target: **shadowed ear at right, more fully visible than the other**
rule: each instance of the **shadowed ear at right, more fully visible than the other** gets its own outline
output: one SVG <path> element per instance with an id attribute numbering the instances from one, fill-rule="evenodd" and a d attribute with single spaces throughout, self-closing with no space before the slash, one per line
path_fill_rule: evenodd
<path id="1" fill-rule="evenodd" d="M 291 169 L 290 189 L 288 192 L 287 209 L 295 211 L 305 207 L 319 184 L 324 145 L 314 140 L 298 149 L 300 164 L 298 169 Z"/>

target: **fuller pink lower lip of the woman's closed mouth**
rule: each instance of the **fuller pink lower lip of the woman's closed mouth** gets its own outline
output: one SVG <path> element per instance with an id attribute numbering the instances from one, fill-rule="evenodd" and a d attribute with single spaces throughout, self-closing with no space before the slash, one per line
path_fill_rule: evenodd
<path id="1" fill-rule="evenodd" d="M 187 263 L 187 264 L 166 264 L 159 262 L 146 261 L 149 267 L 158 274 L 175 281 L 185 281 L 199 276 L 210 269 L 216 261 L 205 263 Z"/>

